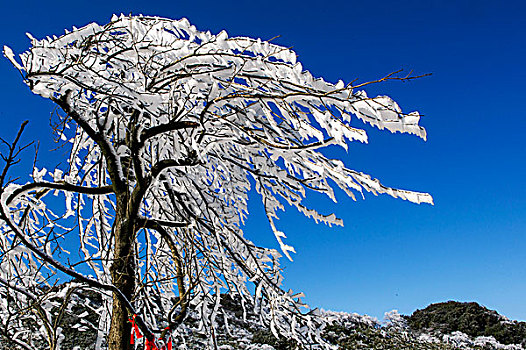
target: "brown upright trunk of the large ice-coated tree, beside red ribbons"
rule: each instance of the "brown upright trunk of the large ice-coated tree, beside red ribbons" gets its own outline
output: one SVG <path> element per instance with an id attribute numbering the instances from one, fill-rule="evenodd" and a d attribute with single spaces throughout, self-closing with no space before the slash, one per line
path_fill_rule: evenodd
<path id="1" fill-rule="evenodd" d="M 117 201 L 117 218 L 115 221 L 115 250 L 111 267 L 111 278 L 115 287 L 119 288 L 128 300 L 132 300 L 135 290 L 135 252 L 133 223 L 127 218 L 126 210 L 119 208 Z M 120 212 L 120 213 L 119 213 Z M 131 323 L 126 306 L 113 294 L 113 310 L 111 315 L 110 333 L 108 336 L 109 350 L 130 350 Z"/>

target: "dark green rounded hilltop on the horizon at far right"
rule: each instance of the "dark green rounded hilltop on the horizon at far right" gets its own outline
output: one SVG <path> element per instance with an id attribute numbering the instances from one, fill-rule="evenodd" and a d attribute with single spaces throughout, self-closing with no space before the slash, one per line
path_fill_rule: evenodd
<path id="1" fill-rule="evenodd" d="M 431 304 L 415 311 L 407 322 L 415 331 L 442 334 L 458 331 L 472 337 L 491 336 L 502 344 L 526 345 L 526 322 L 509 321 L 475 302 Z"/>

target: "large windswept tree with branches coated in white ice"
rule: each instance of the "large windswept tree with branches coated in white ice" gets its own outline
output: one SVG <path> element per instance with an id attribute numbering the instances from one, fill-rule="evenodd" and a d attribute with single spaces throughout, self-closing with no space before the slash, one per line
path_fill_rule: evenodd
<path id="1" fill-rule="evenodd" d="M 114 16 L 58 38 L 28 36 L 32 47 L 19 59 L 8 47 L 4 55 L 31 91 L 59 107 L 53 131 L 70 155 L 53 171 L 35 165 L 32 181 L 20 185 L 7 173 L 24 148 L 23 127 L 6 143 L 0 284 L 4 293 L 35 295 L 66 277 L 98 291 L 105 305 L 99 338 L 109 330 L 109 349 L 130 348 L 131 317 L 147 343 L 161 346 L 188 312 L 199 312 L 213 338 L 227 292 L 253 299 L 276 336 L 323 342 L 301 294 L 280 288 L 280 253 L 243 236 L 251 188 L 289 259 L 294 249 L 274 223 L 284 203 L 342 225 L 305 207 L 307 192 L 335 200 L 334 188 L 353 198 L 366 190 L 432 202 L 320 152 L 367 142 L 351 115 L 425 138 L 417 112 L 402 113 L 389 97 L 359 90 L 414 76 L 332 84 L 303 71 L 288 48 L 201 32 L 186 19 Z M 66 251 L 71 244 L 78 254 Z M 28 337 L 10 337 L 31 346 Z M 50 348 L 59 343 L 49 341 Z"/>

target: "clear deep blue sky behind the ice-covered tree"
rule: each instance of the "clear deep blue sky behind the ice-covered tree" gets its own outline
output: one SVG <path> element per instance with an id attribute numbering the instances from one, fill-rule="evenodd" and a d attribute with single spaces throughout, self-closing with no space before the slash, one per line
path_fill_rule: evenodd
<path id="1" fill-rule="evenodd" d="M 383 317 L 432 302 L 477 301 L 526 319 L 526 3 L 523 1 L 3 1 L 0 43 L 15 52 L 35 37 L 106 23 L 112 13 L 187 17 L 201 30 L 293 46 L 303 66 L 329 81 L 372 80 L 404 68 L 433 73 L 369 89 L 419 110 L 428 141 L 370 131 L 368 145 L 330 151 L 386 185 L 430 192 L 435 206 L 389 197 L 338 205 L 344 228 L 282 215 L 296 247 L 286 287 L 312 306 Z M 30 119 L 53 166 L 52 105 L 33 96 L 0 60 L 0 136 Z M 253 203 L 247 235 L 277 246 Z"/>

